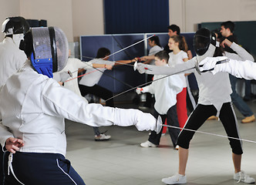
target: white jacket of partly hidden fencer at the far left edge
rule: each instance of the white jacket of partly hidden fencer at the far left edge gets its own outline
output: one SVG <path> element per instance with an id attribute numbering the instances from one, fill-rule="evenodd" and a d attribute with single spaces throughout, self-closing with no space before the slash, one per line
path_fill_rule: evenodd
<path id="1" fill-rule="evenodd" d="M 0 86 L 23 66 L 26 59 L 25 52 L 15 45 L 12 38 L 6 37 L 0 43 Z"/>

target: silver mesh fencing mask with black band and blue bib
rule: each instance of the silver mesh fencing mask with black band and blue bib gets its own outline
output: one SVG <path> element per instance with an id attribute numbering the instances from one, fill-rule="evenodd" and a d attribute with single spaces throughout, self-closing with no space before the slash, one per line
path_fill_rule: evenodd
<path id="1" fill-rule="evenodd" d="M 39 74 L 52 78 L 52 72 L 58 72 L 66 66 L 69 45 L 61 29 L 32 28 L 32 43 L 33 52 L 30 59 Z"/>

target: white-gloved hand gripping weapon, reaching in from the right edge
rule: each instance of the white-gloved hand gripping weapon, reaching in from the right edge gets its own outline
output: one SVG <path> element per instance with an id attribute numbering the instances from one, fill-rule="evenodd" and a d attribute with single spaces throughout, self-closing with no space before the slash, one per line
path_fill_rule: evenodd
<path id="1" fill-rule="evenodd" d="M 217 57 L 207 57 L 203 59 L 199 63 L 199 69 L 200 72 L 212 72 L 213 74 L 219 72 L 217 68 L 215 68 L 216 65 L 221 65 L 221 63 L 218 62 L 228 62 L 228 59 L 226 56 L 217 56 Z"/>

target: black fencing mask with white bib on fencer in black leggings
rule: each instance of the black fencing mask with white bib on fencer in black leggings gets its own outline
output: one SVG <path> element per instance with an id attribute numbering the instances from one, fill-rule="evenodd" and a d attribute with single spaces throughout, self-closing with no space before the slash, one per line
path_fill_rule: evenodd
<path id="1" fill-rule="evenodd" d="M 199 62 L 207 56 L 214 56 L 217 43 L 214 32 L 205 28 L 197 30 L 194 35 L 193 44 Z"/>

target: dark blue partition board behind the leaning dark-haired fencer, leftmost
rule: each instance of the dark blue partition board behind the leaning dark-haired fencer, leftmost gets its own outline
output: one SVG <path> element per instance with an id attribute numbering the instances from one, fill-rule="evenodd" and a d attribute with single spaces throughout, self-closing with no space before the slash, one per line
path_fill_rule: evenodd
<path id="1" fill-rule="evenodd" d="M 95 58 L 97 50 L 101 47 L 108 48 L 111 53 L 120 51 L 120 49 L 142 41 L 143 36 L 143 34 L 81 36 L 81 59 L 83 61 L 89 61 L 90 59 L 86 57 Z M 109 60 L 117 61 L 133 59 L 142 55 L 144 55 L 144 42 L 140 42 L 129 49 L 110 56 Z M 106 89 L 111 90 L 113 93 L 123 92 L 126 89 L 130 89 L 130 86 L 138 86 L 145 82 L 145 76 L 140 75 L 139 72 L 134 72 L 132 66 L 115 66 L 112 71 L 106 70 L 104 74 L 106 75 L 103 75 L 99 80 L 99 86 L 103 86 Z M 113 76 L 130 86 L 126 86 L 122 82 L 118 82 L 107 75 Z"/>

